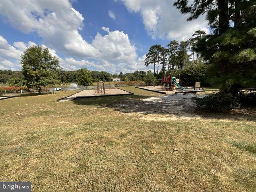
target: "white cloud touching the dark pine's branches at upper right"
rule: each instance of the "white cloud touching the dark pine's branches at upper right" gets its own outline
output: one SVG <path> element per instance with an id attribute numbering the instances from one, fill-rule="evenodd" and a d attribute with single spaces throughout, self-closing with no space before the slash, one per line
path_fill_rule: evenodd
<path id="1" fill-rule="evenodd" d="M 187 40 L 196 30 L 208 32 L 205 16 L 187 22 L 170 0 L 120 0 L 130 12 L 139 12 L 152 38 Z"/>

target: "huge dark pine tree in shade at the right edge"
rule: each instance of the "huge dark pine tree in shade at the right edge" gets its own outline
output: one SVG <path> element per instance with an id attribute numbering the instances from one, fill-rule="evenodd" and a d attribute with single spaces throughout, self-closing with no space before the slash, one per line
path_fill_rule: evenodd
<path id="1" fill-rule="evenodd" d="M 176 0 L 188 20 L 207 14 L 212 34 L 198 41 L 198 52 L 209 64 L 210 82 L 220 92 L 236 95 L 241 86 L 256 85 L 256 1 Z"/>

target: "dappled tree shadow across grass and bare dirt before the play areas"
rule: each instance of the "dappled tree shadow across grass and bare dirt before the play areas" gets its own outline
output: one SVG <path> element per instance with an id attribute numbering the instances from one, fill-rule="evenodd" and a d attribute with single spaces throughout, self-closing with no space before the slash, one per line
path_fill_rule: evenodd
<path id="1" fill-rule="evenodd" d="M 180 97 L 180 98 L 179 98 Z M 73 100 L 78 105 L 112 108 L 123 113 L 139 113 L 140 115 L 175 115 L 177 118 L 211 118 L 256 120 L 256 108 L 236 109 L 230 113 L 202 112 L 195 109 L 190 98 L 182 99 L 182 95 L 175 96 L 109 96 L 98 98 L 78 98 Z M 163 116 L 164 117 L 164 116 Z"/>

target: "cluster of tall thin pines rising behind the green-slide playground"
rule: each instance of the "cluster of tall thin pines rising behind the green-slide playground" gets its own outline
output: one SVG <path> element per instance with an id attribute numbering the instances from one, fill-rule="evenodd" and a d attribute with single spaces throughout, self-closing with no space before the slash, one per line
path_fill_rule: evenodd
<path id="1" fill-rule="evenodd" d="M 146 54 L 146 67 L 154 66 L 154 74 L 157 76 L 160 72 L 176 71 L 187 66 L 204 63 L 197 51 L 198 42 L 206 36 L 203 30 L 196 31 L 192 38 L 187 41 L 172 40 L 166 47 L 156 44 L 150 47 Z"/>

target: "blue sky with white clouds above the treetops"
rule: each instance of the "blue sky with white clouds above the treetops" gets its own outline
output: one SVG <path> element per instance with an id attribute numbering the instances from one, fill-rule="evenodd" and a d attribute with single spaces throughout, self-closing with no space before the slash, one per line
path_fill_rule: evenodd
<path id="1" fill-rule="evenodd" d="M 187 22 L 172 0 L 1 0 L 0 70 L 21 70 L 20 55 L 40 45 L 63 70 L 112 74 L 150 70 L 154 44 L 208 32 L 205 16 Z"/>

